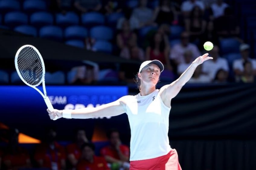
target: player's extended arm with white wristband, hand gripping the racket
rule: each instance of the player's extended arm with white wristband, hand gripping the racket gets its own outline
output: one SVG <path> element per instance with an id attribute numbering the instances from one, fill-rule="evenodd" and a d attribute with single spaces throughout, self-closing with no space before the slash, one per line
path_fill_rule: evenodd
<path id="1" fill-rule="evenodd" d="M 99 107 L 85 107 L 82 109 L 75 110 L 57 110 L 53 109 L 49 113 L 50 119 L 56 119 L 56 116 L 59 118 L 73 118 L 73 119 L 90 119 L 93 117 L 108 117 L 108 116 L 118 116 L 126 112 L 126 98 L 128 96 L 123 96 L 120 99 L 103 104 Z"/>

